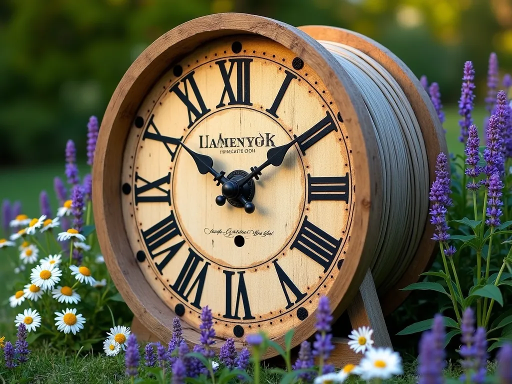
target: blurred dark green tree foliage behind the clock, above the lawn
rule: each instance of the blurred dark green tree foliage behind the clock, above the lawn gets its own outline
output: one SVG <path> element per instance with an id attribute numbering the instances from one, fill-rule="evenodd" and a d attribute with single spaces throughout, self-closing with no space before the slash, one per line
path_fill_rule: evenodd
<path id="1" fill-rule="evenodd" d="M 61 161 L 84 147 L 133 60 L 195 17 L 246 12 L 294 26 L 324 24 L 370 36 L 456 103 L 462 65 L 475 63 L 479 96 L 487 58 L 512 63 L 511 0 L 0 0 L 0 166 Z M 83 153 L 82 153 L 83 155 Z"/>

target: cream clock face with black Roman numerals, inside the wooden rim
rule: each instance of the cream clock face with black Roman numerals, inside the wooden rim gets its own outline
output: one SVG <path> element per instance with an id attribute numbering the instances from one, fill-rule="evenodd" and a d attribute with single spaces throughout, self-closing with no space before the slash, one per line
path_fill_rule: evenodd
<path id="1" fill-rule="evenodd" d="M 293 140 L 245 200 L 216 204 L 221 186 L 198 156 L 241 180 Z M 351 152 L 324 82 L 280 44 L 240 35 L 190 52 L 142 99 L 124 152 L 124 224 L 148 284 L 192 326 L 208 305 L 220 337 L 297 326 L 343 279 Z"/>

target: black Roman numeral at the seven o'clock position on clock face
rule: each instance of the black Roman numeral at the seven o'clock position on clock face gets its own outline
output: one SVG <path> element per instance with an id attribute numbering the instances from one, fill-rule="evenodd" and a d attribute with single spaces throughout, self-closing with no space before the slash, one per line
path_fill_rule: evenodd
<path id="1" fill-rule="evenodd" d="M 188 288 L 190 280 L 192 280 L 192 277 L 194 276 L 194 273 L 196 272 L 199 263 L 204 261 L 203 258 L 199 256 L 196 252 L 194 252 L 192 249 L 188 248 L 188 252 L 189 253 L 187 260 L 185 260 L 185 264 L 183 265 L 183 268 L 181 268 L 180 274 L 176 279 L 176 283 L 174 283 L 173 285 L 169 285 L 169 287 L 171 287 L 177 294 L 179 294 L 183 298 L 183 300 L 188 302 L 188 296 L 190 295 L 190 292 L 192 292 L 192 290 L 197 286 L 196 297 L 194 301 L 190 304 L 196 307 L 197 309 L 201 309 L 201 295 L 203 294 L 206 272 L 208 271 L 208 265 L 210 265 L 210 263 L 206 262 L 204 264 L 203 268 L 197 275 L 196 280 L 194 280 L 194 282 L 190 285 L 190 288 Z M 187 288 L 188 291 L 186 291 Z"/>

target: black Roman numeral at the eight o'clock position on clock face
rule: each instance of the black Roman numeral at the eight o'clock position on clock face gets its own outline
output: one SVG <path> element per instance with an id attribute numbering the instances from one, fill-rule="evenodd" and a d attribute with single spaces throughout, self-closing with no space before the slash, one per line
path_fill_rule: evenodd
<path id="1" fill-rule="evenodd" d="M 168 252 L 165 258 L 160 263 L 155 263 L 160 274 L 165 266 L 169 263 L 171 259 L 173 259 L 174 255 L 180 250 L 181 246 L 185 243 L 185 240 L 176 243 L 170 247 L 167 247 L 161 251 L 155 253 L 155 250 L 167 243 L 171 239 L 176 236 L 181 236 L 180 229 L 178 228 L 178 224 L 176 223 L 176 219 L 174 218 L 174 212 L 170 211 L 170 215 L 165 219 L 159 221 L 157 224 L 152 226 L 145 231 L 141 230 L 142 238 L 144 239 L 144 243 L 148 251 L 150 251 L 151 259 L 155 259 L 157 256 L 162 253 Z"/>

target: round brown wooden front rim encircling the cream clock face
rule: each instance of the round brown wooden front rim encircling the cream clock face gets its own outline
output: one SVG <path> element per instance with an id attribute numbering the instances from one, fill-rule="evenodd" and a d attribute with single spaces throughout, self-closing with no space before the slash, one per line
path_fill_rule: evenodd
<path id="1" fill-rule="evenodd" d="M 381 202 L 380 160 L 368 111 L 356 87 L 337 61 L 306 33 L 270 18 L 224 13 L 200 17 L 165 33 L 153 42 L 131 65 L 119 82 L 103 116 L 93 167 L 93 205 L 96 230 L 106 265 L 119 292 L 135 316 L 159 339 L 170 339 L 175 313 L 162 303 L 146 284 L 130 248 L 122 220 L 121 166 L 124 143 L 142 101 L 155 81 L 185 53 L 208 40 L 234 34 L 252 33 L 270 38 L 296 53 L 323 79 L 351 132 L 351 144 L 357 184 L 353 233 L 365 242 L 349 243 L 343 264 L 344 279 L 336 279 L 328 293 L 334 316 L 339 316 L 357 293 L 370 265 L 378 230 Z M 370 236 L 367 236 L 370 235 Z M 300 344 L 314 333 L 315 316 L 310 314 L 295 328 L 292 345 Z M 190 342 L 199 340 L 199 332 L 183 324 Z M 275 342 L 284 346 L 284 335 Z M 236 340 L 237 346 L 242 346 Z M 220 343 L 215 345 L 218 350 Z M 276 355 L 272 349 L 263 357 Z"/>

